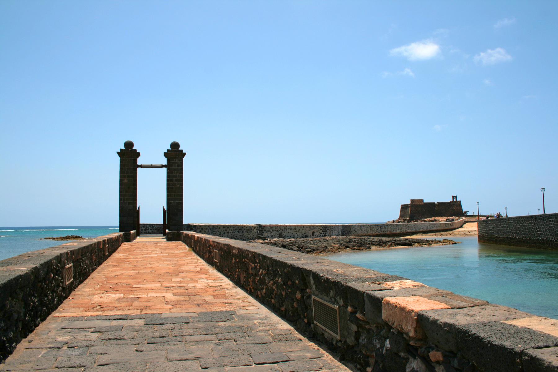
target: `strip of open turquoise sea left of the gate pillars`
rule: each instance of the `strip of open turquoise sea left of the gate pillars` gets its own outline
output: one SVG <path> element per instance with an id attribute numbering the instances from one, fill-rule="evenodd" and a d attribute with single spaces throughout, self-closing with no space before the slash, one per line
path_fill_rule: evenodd
<path id="1" fill-rule="evenodd" d="M 68 243 L 41 238 L 79 235 L 96 238 L 118 231 L 118 226 L 24 226 L 17 228 L 0 227 L 0 260 L 17 256 L 31 250 L 44 249 Z"/>

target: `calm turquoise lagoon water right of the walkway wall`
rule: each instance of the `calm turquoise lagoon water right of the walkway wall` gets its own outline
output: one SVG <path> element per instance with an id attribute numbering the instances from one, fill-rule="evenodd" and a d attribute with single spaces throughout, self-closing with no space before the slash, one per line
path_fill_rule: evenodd
<path id="1" fill-rule="evenodd" d="M 558 319 L 558 252 L 484 244 L 477 236 L 448 239 L 461 243 L 326 257 Z"/>

